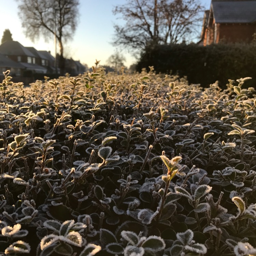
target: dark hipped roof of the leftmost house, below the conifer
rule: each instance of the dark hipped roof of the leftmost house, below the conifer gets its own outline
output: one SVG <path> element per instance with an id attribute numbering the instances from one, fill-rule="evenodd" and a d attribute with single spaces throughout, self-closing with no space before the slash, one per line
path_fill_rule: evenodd
<path id="1" fill-rule="evenodd" d="M 36 57 L 26 47 L 17 41 L 5 41 L 0 45 L 0 54 Z"/>

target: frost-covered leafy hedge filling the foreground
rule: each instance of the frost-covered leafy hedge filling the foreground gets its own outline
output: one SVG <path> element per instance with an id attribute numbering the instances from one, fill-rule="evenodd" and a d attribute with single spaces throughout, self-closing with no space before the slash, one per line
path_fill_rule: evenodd
<path id="1" fill-rule="evenodd" d="M 149 73 L 0 85 L 1 255 L 256 255 L 256 96 Z M 245 82 L 246 83 L 246 82 Z"/>

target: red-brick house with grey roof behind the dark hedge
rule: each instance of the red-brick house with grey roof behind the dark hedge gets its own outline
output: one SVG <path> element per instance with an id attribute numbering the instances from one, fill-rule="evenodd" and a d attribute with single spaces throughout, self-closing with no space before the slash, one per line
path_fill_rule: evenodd
<path id="1" fill-rule="evenodd" d="M 204 12 L 199 44 L 246 42 L 256 33 L 255 0 L 212 0 Z"/>

